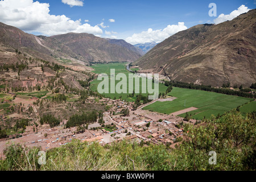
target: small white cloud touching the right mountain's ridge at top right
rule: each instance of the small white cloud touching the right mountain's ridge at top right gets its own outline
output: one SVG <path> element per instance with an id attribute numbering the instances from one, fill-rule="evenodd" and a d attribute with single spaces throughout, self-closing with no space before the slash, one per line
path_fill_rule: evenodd
<path id="1" fill-rule="evenodd" d="M 238 7 L 237 10 L 232 11 L 229 15 L 220 14 L 220 16 L 218 16 L 218 18 L 214 19 L 213 21 L 215 24 L 219 24 L 227 20 L 232 20 L 243 13 L 247 13 L 249 10 L 250 9 L 248 9 L 248 7 L 242 5 Z"/>

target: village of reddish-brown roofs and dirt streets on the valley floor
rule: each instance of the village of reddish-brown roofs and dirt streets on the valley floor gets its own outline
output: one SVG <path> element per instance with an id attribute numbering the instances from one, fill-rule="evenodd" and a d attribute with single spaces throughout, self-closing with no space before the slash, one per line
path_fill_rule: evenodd
<path id="1" fill-rule="evenodd" d="M 110 98 L 102 98 L 100 102 L 110 107 L 103 113 L 104 125 L 98 122 L 92 123 L 83 133 L 78 133 L 77 127 L 65 129 L 64 125 L 67 121 L 63 122 L 64 125 L 53 128 L 49 125 L 42 125 L 36 132 L 33 131 L 33 126 L 28 126 L 20 138 L 0 140 L 0 158 L 6 146 L 12 143 L 20 143 L 27 147 L 39 146 L 43 151 L 47 151 L 68 144 L 75 139 L 88 143 L 98 142 L 102 145 L 120 142 L 124 139 L 138 143 L 143 140 L 143 143 L 166 144 L 174 147 L 176 142 L 180 141 L 179 138 L 183 137 L 181 123 L 195 123 L 193 119 L 186 122 L 177 115 L 154 113 L 142 110 L 142 107 L 133 110 L 132 102 Z M 129 109 L 129 115 L 123 117 L 120 114 L 122 109 Z"/>

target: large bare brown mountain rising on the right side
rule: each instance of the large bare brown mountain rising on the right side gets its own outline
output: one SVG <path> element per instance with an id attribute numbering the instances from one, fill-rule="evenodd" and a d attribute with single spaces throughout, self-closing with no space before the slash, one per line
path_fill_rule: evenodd
<path id="1" fill-rule="evenodd" d="M 256 82 L 256 10 L 214 24 L 178 32 L 135 61 L 172 80 L 221 86 Z"/>

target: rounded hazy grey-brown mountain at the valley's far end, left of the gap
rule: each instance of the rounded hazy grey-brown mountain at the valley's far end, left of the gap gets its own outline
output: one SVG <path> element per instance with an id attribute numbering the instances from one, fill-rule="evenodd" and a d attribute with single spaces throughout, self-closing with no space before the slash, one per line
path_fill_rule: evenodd
<path id="1" fill-rule="evenodd" d="M 132 62 L 141 57 L 136 49 L 132 50 L 125 46 L 110 43 L 109 40 L 99 38 L 92 34 L 69 33 L 51 36 L 48 39 L 51 39 L 53 42 L 49 47 L 52 49 L 55 48 L 55 51 L 65 53 L 74 59 L 85 62 Z"/>

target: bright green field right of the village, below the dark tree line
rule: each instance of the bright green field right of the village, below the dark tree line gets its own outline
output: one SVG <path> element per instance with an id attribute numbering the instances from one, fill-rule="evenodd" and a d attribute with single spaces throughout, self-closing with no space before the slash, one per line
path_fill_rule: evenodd
<path id="1" fill-rule="evenodd" d="M 199 109 L 191 111 L 188 114 L 192 114 L 194 119 L 203 119 L 204 116 L 209 118 L 212 114 L 216 116 L 219 113 L 224 114 L 225 111 L 236 109 L 237 106 L 243 105 L 251 100 L 250 98 L 183 88 L 174 88 L 170 95 L 177 97 L 177 99 L 166 102 L 157 101 L 143 109 L 171 114 L 189 107 L 197 107 Z M 185 113 L 180 116 L 185 117 Z"/>

